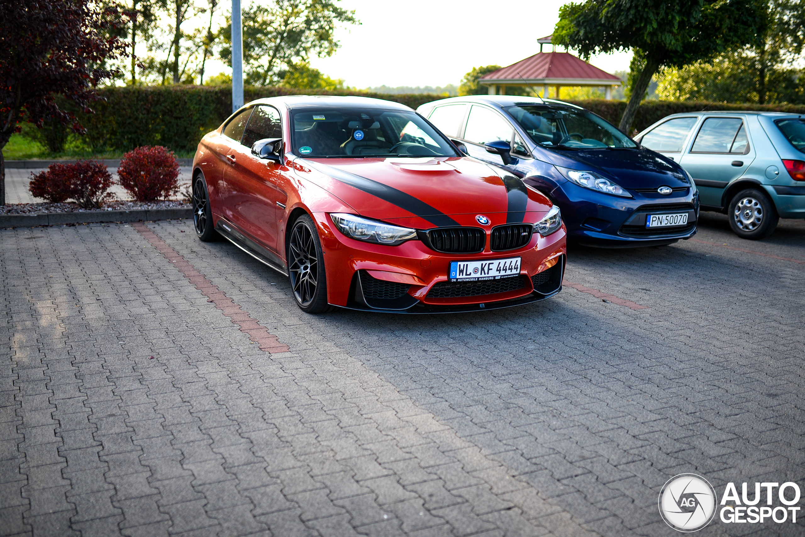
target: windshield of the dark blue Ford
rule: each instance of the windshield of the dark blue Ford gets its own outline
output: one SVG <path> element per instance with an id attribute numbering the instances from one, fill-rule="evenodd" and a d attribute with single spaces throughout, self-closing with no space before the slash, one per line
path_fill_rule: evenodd
<path id="1" fill-rule="evenodd" d="M 551 105 L 519 105 L 510 106 L 506 111 L 535 143 L 543 147 L 638 147 L 638 144 L 620 130 L 587 110 Z"/>

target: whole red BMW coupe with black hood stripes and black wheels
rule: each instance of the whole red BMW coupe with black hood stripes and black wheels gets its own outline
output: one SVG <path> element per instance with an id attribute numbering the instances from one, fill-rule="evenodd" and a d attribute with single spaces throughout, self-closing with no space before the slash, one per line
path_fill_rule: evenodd
<path id="1" fill-rule="evenodd" d="M 250 102 L 201 140 L 192 192 L 198 237 L 287 275 L 305 312 L 477 311 L 562 288 L 559 208 L 398 103 Z"/>

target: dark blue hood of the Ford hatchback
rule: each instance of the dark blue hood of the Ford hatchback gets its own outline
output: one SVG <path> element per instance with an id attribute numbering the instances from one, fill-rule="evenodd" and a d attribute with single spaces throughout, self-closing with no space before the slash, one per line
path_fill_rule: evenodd
<path id="1" fill-rule="evenodd" d="M 602 171 L 623 188 L 689 187 L 679 166 L 648 149 L 548 151 L 550 162 L 572 170 Z"/>

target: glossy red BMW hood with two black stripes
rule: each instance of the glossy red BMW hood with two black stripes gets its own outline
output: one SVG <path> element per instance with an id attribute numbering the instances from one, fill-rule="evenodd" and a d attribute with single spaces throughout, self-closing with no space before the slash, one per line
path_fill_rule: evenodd
<path id="1" fill-rule="evenodd" d="M 517 177 L 467 157 L 295 159 L 297 176 L 338 197 L 362 216 L 405 219 L 430 228 L 488 215 L 497 223 L 534 221 L 550 202 Z M 494 217 L 492 215 L 495 215 Z M 455 217 L 455 218 L 454 218 Z"/>

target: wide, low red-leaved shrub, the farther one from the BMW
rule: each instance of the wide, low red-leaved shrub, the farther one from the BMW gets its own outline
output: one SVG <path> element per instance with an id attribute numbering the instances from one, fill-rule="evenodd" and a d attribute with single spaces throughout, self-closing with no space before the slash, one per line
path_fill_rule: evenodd
<path id="1" fill-rule="evenodd" d="M 106 192 L 112 184 L 112 176 L 104 163 L 79 160 L 76 163 L 51 164 L 39 175 L 31 173 L 28 189 L 32 196 L 51 203 L 76 200 L 82 209 L 98 209 L 114 197 Z"/>

